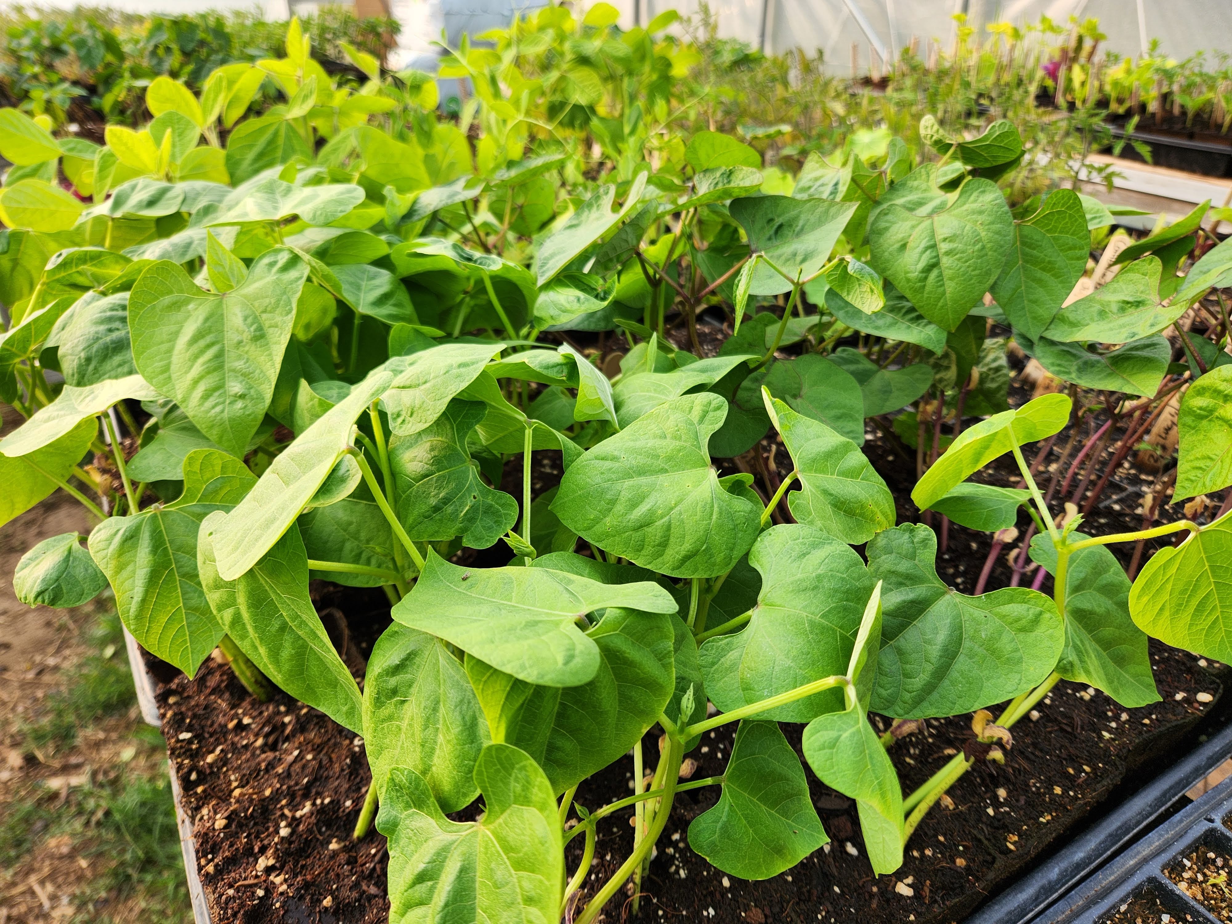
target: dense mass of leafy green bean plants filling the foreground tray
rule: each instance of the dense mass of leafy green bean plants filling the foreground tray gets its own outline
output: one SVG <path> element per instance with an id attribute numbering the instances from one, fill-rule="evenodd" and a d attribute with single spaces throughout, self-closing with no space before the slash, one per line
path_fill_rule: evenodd
<path id="1" fill-rule="evenodd" d="M 1067 188 L 1011 211 L 1008 121 L 928 117 L 926 163 L 892 138 L 811 158 L 782 190 L 737 138 L 631 128 L 628 74 L 609 101 L 628 131 L 596 100 L 594 134 L 565 133 L 580 65 L 526 86 L 499 46 L 458 49 L 477 80 L 506 68 L 476 96 L 473 143 L 379 73 L 335 86 L 309 44 L 293 22 L 285 58 L 200 95 L 154 81 L 153 122 L 96 149 L 0 111 L 0 397 L 26 418 L 0 440 L 0 520 L 65 490 L 97 524 L 26 553 L 22 600 L 110 585 L 140 646 L 190 678 L 221 649 L 253 695 L 280 687 L 362 736 L 356 837 L 389 839 L 391 920 L 590 924 L 646 876 L 689 788 L 719 792 L 695 851 L 749 880 L 790 869 L 828 838 L 782 723 L 891 873 L 1058 679 L 1138 706 L 1158 699 L 1148 636 L 1232 660 L 1232 516 L 1087 536 L 1024 456 L 1076 415 L 1188 386 L 1175 495 L 1232 484 L 1226 309 L 1207 335 L 1177 326 L 1180 362 L 1161 333 L 1232 282 L 1227 243 L 1189 265 L 1209 203 L 1066 304 L 1114 217 Z M 244 120 L 265 79 L 285 102 Z M 395 110 L 410 131 L 377 124 Z M 1011 408 L 991 330 L 1098 399 Z M 618 367 L 596 365 L 598 338 L 627 346 Z M 914 445 L 926 516 L 999 532 L 1025 506 L 1053 594 L 947 586 L 866 428 Z M 970 480 L 1007 453 L 1021 488 Z M 1108 549 L 1181 531 L 1132 585 Z M 312 578 L 388 595 L 362 690 Z M 878 734 L 870 712 L 896 724 Z M 978 747 L 904 796 L 896 729 L 966 713 Z M 700 737 L 736 723 L 724 771 L 681 780 Z M 588 780 L 630 753 L 633 792 L 596 803 Z M 632 845 L 594 882 L 616 812 Z"/>

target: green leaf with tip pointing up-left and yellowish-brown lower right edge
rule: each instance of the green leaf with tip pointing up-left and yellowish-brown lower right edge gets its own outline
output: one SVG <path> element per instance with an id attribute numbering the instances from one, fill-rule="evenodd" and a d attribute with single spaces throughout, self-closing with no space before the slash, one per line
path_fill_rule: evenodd
<path id="1" fill-rule="evenodd" d="M 797 522 L 853 546 L 894 525 L 894 496 L 859 446 L 781 400 L 766 404 L 800 473 L 801 490 L 787 494 Z"/>

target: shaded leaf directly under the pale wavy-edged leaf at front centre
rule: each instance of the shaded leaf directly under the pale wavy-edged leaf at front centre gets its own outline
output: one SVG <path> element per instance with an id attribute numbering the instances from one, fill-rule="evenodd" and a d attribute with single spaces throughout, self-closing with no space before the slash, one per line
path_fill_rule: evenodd
<path id="1" fill-rule="evenodd" d="M 492 739 L 535 758 L 557 793 L 618 760 L 671 699 L 674 618 L 609 609 L 586 631 L 600 664 L 580 686 L 536 686 L 467 655 Z"/>

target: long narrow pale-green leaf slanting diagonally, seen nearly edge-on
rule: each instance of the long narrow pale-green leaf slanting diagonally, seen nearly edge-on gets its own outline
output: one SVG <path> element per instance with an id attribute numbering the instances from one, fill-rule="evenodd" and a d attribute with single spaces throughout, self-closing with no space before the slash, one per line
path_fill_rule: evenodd
<path id="1" fill-rule="evenodd" d="M 294 522 L 351 445 L 355 419 L 392 381 L 392 372 L 373 370 L 274 460 L 251 493 L 214 530 L 214 556 L 223 580 L 234 580 L 256 564 Z"/>

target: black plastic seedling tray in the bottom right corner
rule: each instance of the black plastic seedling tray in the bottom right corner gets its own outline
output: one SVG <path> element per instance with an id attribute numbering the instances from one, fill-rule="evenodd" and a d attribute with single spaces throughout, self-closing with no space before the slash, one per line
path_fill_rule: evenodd
<path id="1" fill-rule="evenodd" d="M 1218 919 L 1178 888 L 1167 871 L 1183 869 L 1181 857 L 1199 845 L 1204 855 L 1205 850 L 1232 855 L 1232 777 L 1163 822 L 1157 819 L 1230 756 L 1232 726 L 1212 734 L 1052 857 L 1044 857 L 967 924 L 1105 924 L 1140 897 L 1157 899 L 1158 910 L 1178 924 L 1216 924 Z"/>

